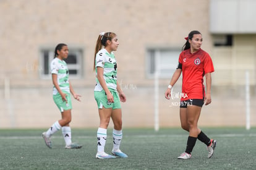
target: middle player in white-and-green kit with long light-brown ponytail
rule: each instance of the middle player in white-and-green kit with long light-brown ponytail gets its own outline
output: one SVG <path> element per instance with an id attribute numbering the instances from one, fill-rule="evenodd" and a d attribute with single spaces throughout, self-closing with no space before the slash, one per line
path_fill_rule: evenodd
<path id="1" fill-rule="evenodd" d="M 120 149 L 122 139 L 122 111 L 121 103 L 126 102 L 126 95 L 117 82 L 117 64 L 113 51 L 117 50 L 119 42 L 113 32 L 100 33 L 96 42 L 95 59 L 93 69 L 96 70 L 96 86 L 94 96 L 98 104 L 100 126 L 97 131 L 98 151 L 96 158 L 109 159 L 127 158 Z M 104 48 L 102 49 L 102 46 Z M 117 94 L 118 92 L 118 94 Z M 107 128 L 110 118 L 114 123 L 112 155 L 105 153 Z"/>

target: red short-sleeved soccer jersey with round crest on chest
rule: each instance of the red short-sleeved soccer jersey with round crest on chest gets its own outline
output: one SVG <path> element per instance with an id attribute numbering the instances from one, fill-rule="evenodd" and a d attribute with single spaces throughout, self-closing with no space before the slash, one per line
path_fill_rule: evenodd
<path id="1" fill-rule="evenodd" d="M 205 97 L 203 76 L 214 72 L 210 55 L 203 49 L 199 49 L 194 54 L 187 49 L 179 55 L 179 63 L 182 66 L 181 100 L 203 99 Z"/>

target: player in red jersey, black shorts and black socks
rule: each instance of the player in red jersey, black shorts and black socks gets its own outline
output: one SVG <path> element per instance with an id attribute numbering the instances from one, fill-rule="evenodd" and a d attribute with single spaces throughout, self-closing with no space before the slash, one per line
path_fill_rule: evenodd
<path id="1" fill-rule="evenodd" d="M 197 122 L 203 104 L 211 103 L 211 72 L 214 71 L 210 55 L 201 49 L 202 34 L 192 31 L 185 38 L 186 44 L 179 55 L 179 65 L 173 74 L 171 82 L 165 92 L 165 98 L 170 99 L 171 88 L 179 79 L 182 72 L 182 98 L 180 105 L 181 127 L 189 132 L 187 148 L 178 159 L 191 158 L 195 142 L 200 140 L 208 148 L 208 158 L 213 156 L 216 140 L 210 139 L 202 130 L 198 129 Z M 206 77 L 207 93 L 203 85 L 203 76 Z"/>

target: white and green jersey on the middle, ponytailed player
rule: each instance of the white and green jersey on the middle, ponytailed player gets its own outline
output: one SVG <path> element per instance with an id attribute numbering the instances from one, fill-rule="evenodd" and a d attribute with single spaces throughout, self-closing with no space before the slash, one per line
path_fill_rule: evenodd
<path id="1" fill-rule="evenodd" d="M 103 77 L 105 79 L 106 85 L 110 91 L 116 91 L 117 87 L 117 64 L 114 57 L 114 53 L 108 53 L 106 49 L 101 49 L 96 54 L 95 59 L 95 70 L 96 70 L 96 86 L 94 91 L 101 91 L 103 88 L 97 79 L 97 67 L 102 67 L 104 69 Z"/>

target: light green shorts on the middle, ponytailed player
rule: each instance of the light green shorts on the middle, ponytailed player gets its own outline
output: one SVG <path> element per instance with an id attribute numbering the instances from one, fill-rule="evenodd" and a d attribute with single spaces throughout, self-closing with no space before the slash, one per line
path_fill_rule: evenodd
<path id="1" fill-rule="evenodd" d="M 104 90 L 94 91 L 94 98 L 98 104 L 98 109 L 112 108 L 112 109 L 121 109 L 121 103 L 117 91 L 110 91 L 114 97 L 114 103 L 109 103 L 106 93 Z"/>

